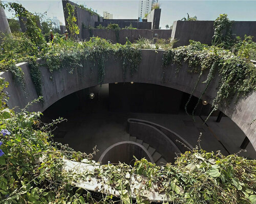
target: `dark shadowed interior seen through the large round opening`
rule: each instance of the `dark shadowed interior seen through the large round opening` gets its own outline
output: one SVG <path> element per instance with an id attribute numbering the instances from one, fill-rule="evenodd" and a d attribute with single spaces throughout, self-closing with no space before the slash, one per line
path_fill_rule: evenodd
<path id="1" fill-rule="evenodd" d="M 90 98 L 90 93 L 94 93 L 93 99 Z M 245 138 L 239 127 L 225 115 L 217 123 L 219 111 L 205 124 L 203 120 L 210 111 L 210 104 L 200 103 L 193 121 L 184 111 L 188 97 L 189 94 L 185 92 L 153 84 L 104 84 L 102 87 L 82 89 L 63 97 L 44 112 L 42 119 L 47 122 L 59 116 L 67 118 L 68 122 L 60 124 L 54 132 L 54 140 L 68 143 L 75 150 L 84 152 L 90 152 L 97 145 L 100 152 L 95 156 L 95 160 L 115 143 L 135 141 L 145 143 L 144 146 L 147 150 L 150 149 L 157 164 L 169 162 L 159 153 L 159 147 L 154 147 L 155 144 L 141 141 L 139 134 L 130 135 L 127 132 L 129 118 L 160 124 L 183 137 L 193 147 L 198 144 L 201 132 L 203 149 L 221 150 L 224 155 L 238 152 Z M 193 112 L 197 100 L 198 98 L 193 96 L 187 108 L 189 113 Z M 243 156 L 256 158 L 251 144 Z"/>

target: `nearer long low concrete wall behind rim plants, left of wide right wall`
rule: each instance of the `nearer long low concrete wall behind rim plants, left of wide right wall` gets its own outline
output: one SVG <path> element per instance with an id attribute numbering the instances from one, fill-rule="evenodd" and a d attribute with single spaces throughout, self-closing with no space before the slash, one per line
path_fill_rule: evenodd
<path id="1" fill-rule="evenodd" d="M 150 29 L 122 29 L 119 31 L 118 43 L 125 44 L 126 37 L 130 40 L 130 42 L 135 42 L 140 37 L 144 37 L 146 39 L 154 39 L 154 38 L 163 38 L 169 39 L 172 35 L 172 30 L 150 30 Z M 115 31 L 107 30 L 107 29 L 82 29 L 82 39 L 90 40 L 90 37 L 100 37 L 107 40 L 111 40 L 112 42 L 117 42 L 117 37 Z"/>

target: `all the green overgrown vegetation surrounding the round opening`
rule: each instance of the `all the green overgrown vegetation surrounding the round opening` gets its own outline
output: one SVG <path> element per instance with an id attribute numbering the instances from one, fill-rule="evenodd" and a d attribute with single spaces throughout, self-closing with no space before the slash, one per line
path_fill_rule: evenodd
<path id="1" fill-rule="evenodd" d="M 37 58 L 42 59 L 50 72 L 64 67 L 73 72 L 90 62 L 91 69 L 95 65 L 98 68 L 98 82 L 102 84 L 109 58 L 114 56 L 121 59 L 125 78 L 129 69 L 130 74 L 137 71 L 141 62 L 140 49 L 153 43 L 154 48 L 161 47 L 161 44 L 166 46 L 163 47 L 166 49 L 163 56 L 164 71 L 169 63 L 175 63 L 178 73 L 182 64 L 188 63 L 188 71 L 199 74 L 194 91 L 203 72 L 209 70 L 204 82 L 205 89 L 198 101 L 207 91 L 215 73 L 219 73 L 220 82 L 213 103 L 214 109 L 220 104 L 228 105 L 234 97 L 246 95 L 256 89 L 256 69 L 249 62 L 250 59 L 255 59 L 252 37 L 245 36 L 244 40 L 237 38 L 236 44 L 226 43 L 224 41 L 230 38 L 223 36 L 225 27 L 221 23 L 216 23 L 218 29 L 216 28 L 213 46 L 191 41 L 188 46 L 173 48 L 173 42 L 161 42 L 160 39 L 155 39 L 153 43 L 140 39 L 135 44 L 127 40 L 125 45 L 120 45 L 100 38 L 76 42 L 72 39 L 63 40 L 59 36 L 47 44 L 35 24 L 36 19 L 28 11 L 14 3 L 8 3 L 7 6 L 30 20 L 27 21 L 26 33 L 6 36 L 1 44 L 0 69 L 11 70 L 17 81 L 23 82 L 24 72 L 15 64 L 29 62 L 38 95 L 41 95 L 41 75 Z M 69 12 L 70 22 L 74 24 L 73 7 L 70 7 Z M 223 22 L 227 22 L 226 19 Z M 116 29 L 115 26 L 111 25 L 112 27 Z M 75 30 L 74 28 L 73 31 Z M 225 47 L 232 52 L 224 49 Z M 51 140 L 49 127 L 62 121 L 61 118 L 51 124 L 43 124 L 39 120 L 39 112 L 29 113 L 26 108 L 17 112 L 9 109 L 4 92 L 7 85 L 0 79 L 0 203 L 115 203 L 112 195 L 94 198 L 90 192 L 74 187 L 77 176 L 78 179 L 83 179 L 88 174 L 85 172 L 83 175 L 73 176 L 70 172 L 62 172 L 62 158 L 73 161 L 87 158 L 87 162 L 92 163 L 90 159 L 93 155 L 76 152 L 67 145 Z M 197 106 L 195 110 L 196 108 Z M 132 202 L 129 183 L 131 176 L 135 176 L 137 180 L 143 177 L 144 189 L 152 189 L 153 184 L 156 184 L 155 190 L 166 195 L 164 203 L 256 202 L 256 161 L 237 155 L 224 157 L 220 152 L 205 152 L 200 145 L 179 156 L 175 164 L 159 167 L 142 159 L 136 160 L 134 167 L 125 164 L 104 165 L 90 176 L 97 176 L 100 182 L 103 182 L 103 176 L 108 177 L 108 184 L 120 192 L 121 202 L 125 204 Z M 136 195 L 137 203 L 148 202 L 139 190 Z"/>

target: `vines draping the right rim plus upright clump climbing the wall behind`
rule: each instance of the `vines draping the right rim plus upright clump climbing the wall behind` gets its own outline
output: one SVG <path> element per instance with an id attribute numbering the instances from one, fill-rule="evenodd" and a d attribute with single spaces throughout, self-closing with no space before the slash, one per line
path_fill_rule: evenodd
<path id="1" fill-rule="evenodd" d="M 226 14 L 220 15 L 214 25 L 215 34 L 212 46 L 190 41 L 188 46 L 166 50 L 163 56 L 163 67 L 166 67 L 169 63 L 177 64 L 178 73 L 182 64 L 188 63 L 189 72 L 199 73 L 198 81 L 185 106 L 186 113 L 186 107 L 201 80 L 203 72 L 207 69 L 209 70 L 207 79 L 203 82 L 205 88 L 193 110 L 193 117 L 200 100 L 209 88 L 216 73 L 219 74 L 220 81 L 217 96 L 212 102 L 212 112 L 220 106 L 227 107 L 232 100 L 237 101 L 239 97 L 246 96 L 250 91 L 256 90 L 256 69 L 247 60 L 255 56 L 254 47 L 256 43 L 252 42 L 251 37 L 245 36 L 243 41 L 238 37 L 239 41 L 234 45 L 234 41 L 231 38 L 231 22 L 227 19 Z M 225 48 L 230 50 L 225 50 Z M 231 52 L 232 49 L 236 49 L 237 55 Z M 252 54 L 249 54 L 248 50 L 252 50 Z M 165 72 L 165 69 L 163 69 L 163 72 Z"/>

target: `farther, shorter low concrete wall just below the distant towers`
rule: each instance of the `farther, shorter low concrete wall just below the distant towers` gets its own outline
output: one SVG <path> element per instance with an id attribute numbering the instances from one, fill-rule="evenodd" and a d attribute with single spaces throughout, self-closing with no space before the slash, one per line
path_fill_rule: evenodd
<path id="1" fill-rule="evenodd" d="M 123 21 L 123 20 L 112 20 L 112 21 L 103 21 L 103 22 L 95 22 L 95 28 L 98 25 L 102 25 L 103 27 L 107 27 L 109 24 L 118 24 L 121 29 L 125 27 L 129 27 L 132 25 L 133 28 L 136 29 L 151 29 L 152 27 L 152 22 L 139 22 L 139 21 Z"/>

